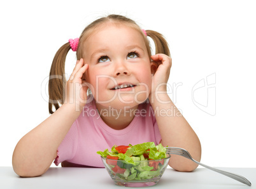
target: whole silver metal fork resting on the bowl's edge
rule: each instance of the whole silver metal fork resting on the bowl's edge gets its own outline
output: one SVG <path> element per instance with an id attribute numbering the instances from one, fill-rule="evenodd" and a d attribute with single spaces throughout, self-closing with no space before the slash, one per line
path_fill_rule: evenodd
<path id="1" fill-rule="evenodd" d="M 187 159 L 192 160 L 193 162 L 196 162 L 197 164 L 199 164 L 200 166 L 206 167 L 208 169 L 211 169 L 212 171 L 216 171 L 217 173 L 220 174 L 224 174 L 225 176 L 228 176 L 232 179 L 236 179 L 237 181 L 244 183 L 245 185 L 251 186 L 252 184 L 250 183 L 250 181 L 248 181 L 248 179 L 244 178 L 243 176 L 240 176 L 238 174 L 234 174 L 234 173 L 229 173 L 227 171 L 222 171 L 220 169 L 215 169 L 213 167 L 210 166 L 206 166 L 200 162 L 197 162 L 196 160 L 194 160 L 190 153 L 188 153 L 187 150 L 183 149 L 183 148 L 176 148 L 176 147 L 166 147 L 166 153 L 169 154 L 176 154 L 176 155 L 181 155 L 183 157 L 186 157 Z"/>

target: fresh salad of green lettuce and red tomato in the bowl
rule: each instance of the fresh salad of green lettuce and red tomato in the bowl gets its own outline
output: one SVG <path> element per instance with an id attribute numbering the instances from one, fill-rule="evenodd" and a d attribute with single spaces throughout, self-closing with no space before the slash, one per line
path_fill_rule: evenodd
<path id="1" fill-rule="evenodd" d="M 113 146 L 111 152 L 106 149 L 97 153 L 106 158 L 106 164 L 113 174 L 127 180 L 150 179 L 158 176 L 167 157 L 166 148 L 161 144 L 156 146 L 153 142 L 134 146 Z"/>

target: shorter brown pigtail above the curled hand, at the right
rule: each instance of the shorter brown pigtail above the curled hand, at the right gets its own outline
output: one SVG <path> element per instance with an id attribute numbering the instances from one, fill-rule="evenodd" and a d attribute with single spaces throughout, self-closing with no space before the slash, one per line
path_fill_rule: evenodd
<path id="1" fill-rule="evenodd" d="M 153 30 L 146 30 L 146 35 L 148 37 L 151 37 L 153 39 L 153 42 L 155 42 L 155 54 L 163 53 L 167 56 L 170 56 L 168 43 L 166 39 L 164 39 L 164 36 L 162 36 L 162 34 Z"/>

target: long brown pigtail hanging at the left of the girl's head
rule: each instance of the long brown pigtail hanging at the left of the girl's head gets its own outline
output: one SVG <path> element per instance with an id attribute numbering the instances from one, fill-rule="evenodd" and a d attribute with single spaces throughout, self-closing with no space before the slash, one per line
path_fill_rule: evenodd
<path id="1" fill-rule="evenodd" d="M 48 108 L 50 114 L 53 114 L 52 106 L 57 110 L 60 104 L 64 103 L 65 99 L 65 86 L 66 86 L 66 77 L 65 73 L 65 61 L 69 49 L 71 49 L 69 42 L 64 44 L 57 51 L 53 58 L 52 67 L 50 69 L 50 78 L 49 78 L 49 102 Z"/>

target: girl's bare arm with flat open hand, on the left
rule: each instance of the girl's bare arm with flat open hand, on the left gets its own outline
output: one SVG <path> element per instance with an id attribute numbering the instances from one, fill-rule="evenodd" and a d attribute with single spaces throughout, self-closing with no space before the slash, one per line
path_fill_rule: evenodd
<path id="1" fill-rule="evenodd" d="M 77 62 L 71 74 L 73 78 L 69 79 L 66 86 L 67 94 L 73 94 L 74 88 L 70 86 L 79 83 L 80 89 L 76 91 L 80 91 L 80 94 L 84 96 L 83 103 L 86 101 L 87 88 L 82 87 L 82 75 L 87 68 L 88 65 L 83 65 L 83 60 Z M 73 103 L 69 103 L 71 99 Z M 78 101 L 76 96 L 66 95 L 65 103 L 58 110 L 18 141 L 13 152 L 15 173 L 19 176 L 31 177 L 39 176 L 48 170 L 57 157 L 57 148 L 80 115 L 83 103 L 79 99 L 79 108 L 77 108 L 77 104 L 74 103 L 76 101 Z"/>

